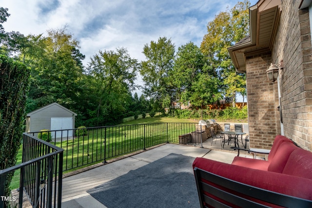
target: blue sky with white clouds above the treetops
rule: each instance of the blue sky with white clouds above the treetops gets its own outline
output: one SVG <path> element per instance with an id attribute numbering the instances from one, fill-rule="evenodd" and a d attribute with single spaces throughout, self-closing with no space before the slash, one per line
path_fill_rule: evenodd
<path id="1" fill-rule="evenodd" d="M 10 17 L 6 32 L 46 35 L 49 29 L 67 30 L 80 43 L 84 66 L 98 51 L 124 47 L 132 58 L 144 60 L 145 44 L 160 37 L 176 46 L 192 41 L 198 47 L 207 24 L 239 0 L 0 0 Z M 250 0 L 254 5 L 257 0 Z M 138 84 L 143 85 L 139 79 Z M 139 94 L 139 91 L 137 92 Z"/>

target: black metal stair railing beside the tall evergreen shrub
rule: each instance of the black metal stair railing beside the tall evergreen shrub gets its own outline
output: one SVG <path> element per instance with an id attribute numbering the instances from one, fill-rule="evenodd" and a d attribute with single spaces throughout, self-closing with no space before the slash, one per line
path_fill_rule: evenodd
<path id="1" fill-rule="evenodd" d="M 61 207 L 63 149 L 23 133 L 22 163 L 0 170 L 0 195 L 8 174 L 20 169 L 19 207 L 25 193 L 34 208 Z M 1 200 L 3 207 L 5 200 Z"/>

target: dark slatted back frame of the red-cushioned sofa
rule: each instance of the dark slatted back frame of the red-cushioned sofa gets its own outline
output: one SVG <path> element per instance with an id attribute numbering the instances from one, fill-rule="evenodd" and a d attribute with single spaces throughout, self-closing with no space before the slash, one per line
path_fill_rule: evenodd
<path id="1" fill-rule="evenodd" d="M 267 208 L 268 206 L 262 204 L 265 202 L 282 207 L 312 207 L 310 200 L 260 189 L 197 167 L 194 168 L 194 175 L 201 208 L 209 207 L 208 205 L 217 208 L 229 208 L 232 205 L 242 208 Z"/>

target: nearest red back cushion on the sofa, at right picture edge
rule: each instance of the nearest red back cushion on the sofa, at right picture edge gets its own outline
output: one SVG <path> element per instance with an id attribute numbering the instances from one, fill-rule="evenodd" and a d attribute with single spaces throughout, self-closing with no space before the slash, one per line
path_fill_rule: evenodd
<path id="1" fill-rule="evenodd" d="M 289 156 L 283 173 L 312 179 L 312 152 L 300 148 L 293 151 Z"/>

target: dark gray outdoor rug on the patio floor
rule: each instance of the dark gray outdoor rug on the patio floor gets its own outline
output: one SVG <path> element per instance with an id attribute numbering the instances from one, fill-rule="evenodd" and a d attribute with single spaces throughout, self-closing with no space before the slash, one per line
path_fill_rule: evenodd
<path id="1" fill-rule="evenodd" d="M 172 153 L 87 192 L 108 208 L 198 208 L 194 159 Z"/>

